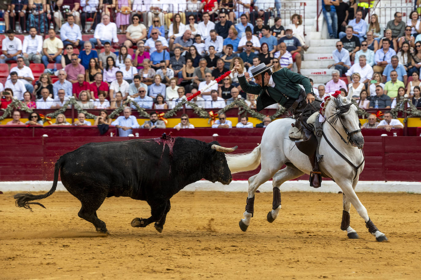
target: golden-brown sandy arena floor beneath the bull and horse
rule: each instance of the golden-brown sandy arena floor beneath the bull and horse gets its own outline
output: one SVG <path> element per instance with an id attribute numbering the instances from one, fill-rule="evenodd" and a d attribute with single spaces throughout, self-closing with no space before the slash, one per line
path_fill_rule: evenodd
<path id="1" fill-rule="evenodd" d="M 40 193 L 37 193 L 40 194 Z M 421 276 L 421 195 L 360 193 L 371 220 L 389 242 L 379 243 L 351 208 L 360 239 L 340 230 L 342 195 L 282 193 L 272 224 L 271 193 L 257 193 L 248 231 L 238 227 L 246 193 L 181 192 L 171 199 L 162 233 L 145 201 L 112 197 L 98 210 L 111 235 L 77 216 L 67 192 L 34 212 L 0 195 L 2 279 L 416 279 Z"/>

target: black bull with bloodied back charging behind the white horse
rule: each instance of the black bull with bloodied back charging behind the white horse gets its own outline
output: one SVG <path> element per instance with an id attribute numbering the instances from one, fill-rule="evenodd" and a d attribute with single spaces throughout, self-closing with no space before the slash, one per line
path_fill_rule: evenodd
<path id="1" fill-rule="evenodd" d="M 82 203 L 79 217 L 93 223 L 96 230 L 108 233 L 105 223 L 96 215 L 105 198 L 128 196 L 147 201 L 151 217 L 134 218 L 133 227 L 146 227 L 155 222 L 162 232 L 170 211 L 170 199 L 182 188 L 202 178 L 229 184 L 232 175 L 218 142 L 172 138 L 133 139 L 120 142 L 89 143 L 60 157 L 54 169 L 53 186 L 48 193 L 14 195 L 16 206 L 29 208 L 29 202 L 46 198 L 56 190 L 59 171 L 61 182 Z M 44 207 L 45 208 L 45 207 Z M 31 209 L 32 210 L 32 209 Z"/>

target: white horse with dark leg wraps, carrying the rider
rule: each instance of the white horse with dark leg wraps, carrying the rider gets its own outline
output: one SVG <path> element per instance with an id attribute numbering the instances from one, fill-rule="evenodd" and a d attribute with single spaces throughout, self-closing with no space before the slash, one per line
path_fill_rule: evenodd
<path id="1" fill-rule="evenodd" d="M 349 238 L 359 238 L 357 232 L 349 225 L 349 209 L 352 204 L 376 240 L 387 241 L 384 233 L 381 233 L 368 217 L 367 210 L 354 191 L 364 168 L 364 154 L 360 150 L 364 145 L 364 138 L 361 134 L 357 107 L 352 104 L 351 95 L 336 98 L 331 96 L 325 101 L 323 110 L 326 120 L 322 125 L 324 135 L 321 137 L 319 146 L 319 154 L 323 157 L 319 162 L 319 167 L 324 177 L 332 178 L 342 189 L 344 210 L 341 230 L 346 230 Z M 312 171 L 309 158 L 300 152 L 295 142 L 288 137 L 291 123 L 295 123 L 292 118 L 275 120 L 266 127 L 261 144 L 252 152 L 238 155 L 226 154 L 231 173 L 254 170 L 261 163 L 260 172 L 248 179 L 246 211 L 243 214 L 244 219 L 240 220 L 242 231 L 246 231 L 250 225 L 250 219 L 253 217 L 254 194 L 261 184 L 273 178 L 273 207 L 267 215 L 268 222 L 273 222 L 281 209 L 281 184 L 304 173 L 310 174 Z M 280 170 L 284 164 L 287 166 Z"/>

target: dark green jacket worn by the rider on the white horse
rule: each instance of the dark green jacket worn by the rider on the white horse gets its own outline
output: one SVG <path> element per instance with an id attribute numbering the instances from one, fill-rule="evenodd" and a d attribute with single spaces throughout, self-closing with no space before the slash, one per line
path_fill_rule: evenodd
<path id="1" fill-rule="evenodd" d="M 238 82 L 244 92 L 258 94 L 256 100 L 258 111 L 274 103 L 284 105 L 289 99 L 298 99 L 301 90 L 301 87 L 298 84 L 302 84 L 304 86 L 306 94 L 314 94 L 309 78 L 295 73 L 286 67 L 272 73 L 272 79 L 275 83 L 275 87 L 266 87 L 270 94 L 270 96 L 268 96 L 261 86 L 250 85 L 244 76 L 238 78 Z"/>

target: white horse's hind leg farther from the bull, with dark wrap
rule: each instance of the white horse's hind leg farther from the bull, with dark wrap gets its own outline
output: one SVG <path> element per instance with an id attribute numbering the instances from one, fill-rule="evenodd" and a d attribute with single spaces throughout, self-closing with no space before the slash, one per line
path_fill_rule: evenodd
<path id="1" fill-rule="evenodd" d="M 273 186 L 272 211 L 269 211 L 269 213 L 267 213 L 268 222 L 273 222 L 278 217 L 279 211 L 281 209 L 280 186 L 286 181 L 298 178 L 303 174 L 304 172 L 297 169 L 295 166 L 287 166 L 279 170 L 277 173 L 275 173 L 275 175 L 272 178 L 272 186 Z"/>

